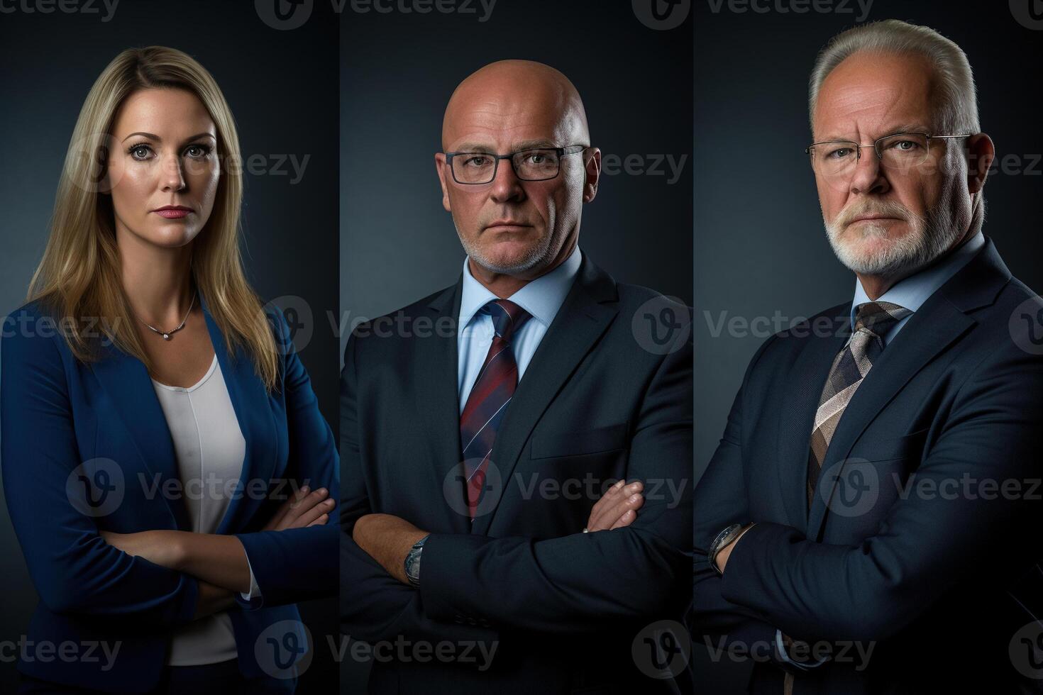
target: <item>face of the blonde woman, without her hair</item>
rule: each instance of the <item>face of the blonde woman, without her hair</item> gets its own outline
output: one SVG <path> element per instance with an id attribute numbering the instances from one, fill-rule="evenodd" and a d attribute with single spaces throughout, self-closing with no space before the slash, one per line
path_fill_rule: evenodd
<path id="1" fill-rule="evenodd" d="M 164 248 L 191 243 L 214 208 L 220 176 L 217 128 L 202 102 L 185 90 L 140 90 L 121 104 L 112 134 L 117 237 Z"/>

